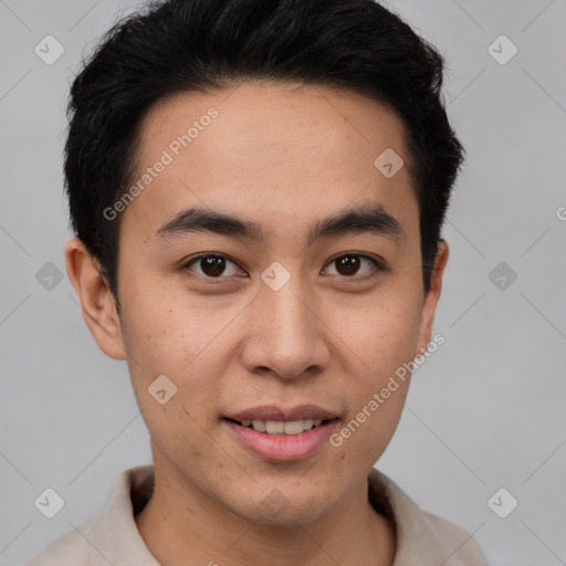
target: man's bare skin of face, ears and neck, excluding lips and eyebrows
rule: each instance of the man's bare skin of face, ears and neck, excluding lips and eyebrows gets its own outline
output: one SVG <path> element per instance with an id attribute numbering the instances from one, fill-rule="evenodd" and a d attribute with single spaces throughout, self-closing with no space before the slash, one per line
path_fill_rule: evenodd
<path id="1" fill-rule="evenodd" d="M 259 405 L 314 403 L 339 416 L 339 430 L 431 339 L 448 245 L 439 242 L 424 295 L 400 120 L 364 96 L 298 86 L 248 81 L 151 108 L 140 172 L 186 124 L 211 106 L 219 116 L 123 212 L 119 316 L 96 260 L 76 238 L 65 249 L 95 340 L 129 366 L 156 474 L 135 518 L 167 566 L 187 566 L 187 556 L 220 566 L 265 557 L 275 566 L 394 563 L 395 530 L 368 503 L 366 478 L 396 430 L 409 379 L 340 447 L 325 442 L 293 462 L 253 455 L 221 420 Z M 388 147 L 405 160 L 392 178 L 374 165 Z M 354 233 L 307 244 L 314 221 L 377 203 L 401 238 Z M 260 222 L 265 240 L 156 235 L 192 206 Z M 349 274 L 334 261 L 346 252 L 387 270 L 359 258 Z M 203 253 L 230 260 L 220 281 L 202 263 L 184 268 Z M 261 280 L 274 261 L 291 275 L 276 292 Z M 147 391 L 161 374 L 177 386 L 165 405 Z M 289 502 L 279 514 L 262 504 L 274 489 Z"/>

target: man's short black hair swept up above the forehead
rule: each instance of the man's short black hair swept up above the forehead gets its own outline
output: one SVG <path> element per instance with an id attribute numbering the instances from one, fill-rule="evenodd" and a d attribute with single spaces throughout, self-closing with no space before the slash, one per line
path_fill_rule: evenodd
<path id="1" fill-rule="evenodd" d="M 428 292 L 464 153 L 446 113 L 443 69 L 431 44 L 374 0 L 147 2 L 102 38 L 71 85 L 64 172 L 74 233 L 119 308 L 119 218 L 103 211 L 133 181 L 150 106 L 241 80 L 338 87 L 386 105 L 403 124 Z"/>

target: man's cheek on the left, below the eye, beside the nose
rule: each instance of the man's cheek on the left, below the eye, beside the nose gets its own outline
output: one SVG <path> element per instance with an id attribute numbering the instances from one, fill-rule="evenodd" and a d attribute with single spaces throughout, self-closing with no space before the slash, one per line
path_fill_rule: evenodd
<path id="1" fill-rule="evenodd" d="M 214 337 L 226 322 L 184 306 L 163 286 L 133 284 L 124 297 L 123 337 L 136 399 L 156 442 L 175 442 L 175 430 L 198 431 L 195 419 L 205 408 L 214 410 L 220 370 L 211 361 L 220 359 Z M 168 430 L 163 439 L 161 429 Z"/>

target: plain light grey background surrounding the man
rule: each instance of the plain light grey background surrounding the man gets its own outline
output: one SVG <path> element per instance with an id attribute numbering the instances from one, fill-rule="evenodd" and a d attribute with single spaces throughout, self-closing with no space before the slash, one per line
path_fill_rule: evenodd
<path id="1" fill-rule="evenodd" d="M 69 83 L 134 6 L 0 0 L 0 565 L 91 518 L 120 471 L 150 461 L 125 363 L 98 350 L 66 275 L 52 289 L 35 277 L 48 262 L 64 272 L 71 235 Z M 434 332 L 446 344 L 415 374 L 378 468 L 475 533 L 490 565 L 566 564 L 566 2 L 388 6 L 446 54 L 448 109 L 468 161 L 444 230 Z M 65 50 L 52 65 L 34 53 L 48 34 Z M 518 48 L 504 65 L 488 50 L 501 34 Z M 509 48 L 494 45 L 500 57 Z M 505 289 L 499 271 L 490 279 L 500 262 Z M 33 503 L 46 488 L 65 502 L 51 520 Z M 501 488 L 518 501 L 506 518 L 488 505 Z M 501 512 L 511 500 L 496 501 Z"/>

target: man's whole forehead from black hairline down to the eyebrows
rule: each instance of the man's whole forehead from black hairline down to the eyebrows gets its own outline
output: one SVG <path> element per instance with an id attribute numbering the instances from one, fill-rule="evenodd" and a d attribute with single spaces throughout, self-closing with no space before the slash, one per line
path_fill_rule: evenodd
<path id="1" fill-rule="evenodd" d="M 387 177 L 379 156 L 391 150 L 405 166 Z M 134 182 L 167 163 L 125 213 L 155 231 L 195 205 L 287 226 L 368 200 L 400 216 L 417 206 L 400 119 L 343 90 L 243 82 L 177 93 L 145 116 L 136 158 Z"/>

